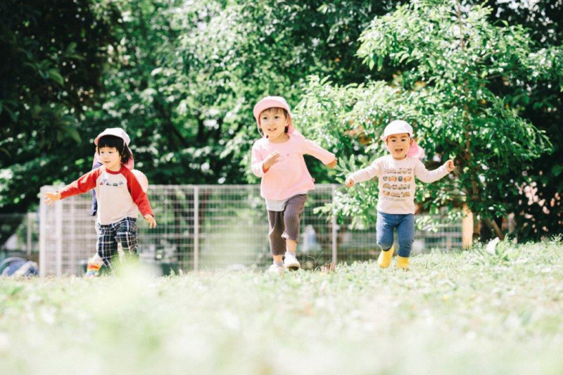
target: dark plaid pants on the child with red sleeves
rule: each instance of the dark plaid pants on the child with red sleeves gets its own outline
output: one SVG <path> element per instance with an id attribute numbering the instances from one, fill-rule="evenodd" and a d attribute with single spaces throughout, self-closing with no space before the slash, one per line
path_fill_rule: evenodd
<path id="1" fill-rule="evenodd" d="M 111 262 L 118 255 L 118 242 L 126 256 L 137 255 L 137 219 L 125 217 L 108 225 L 96 223 L 98 255 L 103 264 L 112 268 Z"/>

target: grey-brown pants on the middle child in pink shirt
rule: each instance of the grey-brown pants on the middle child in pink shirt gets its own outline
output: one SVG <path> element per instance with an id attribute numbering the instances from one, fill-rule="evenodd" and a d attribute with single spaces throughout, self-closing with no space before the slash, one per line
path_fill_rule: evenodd
<path id="1" fill-rule="evenodd" d="M 299 242 L 299 223 L 305 201 L 307 194 L 299 194 L 287 200 L 283 211 L 268 211 L 268 224 L 270 224 L 268 237 L 272 255 L 284 255 L 286 239 Z"/>

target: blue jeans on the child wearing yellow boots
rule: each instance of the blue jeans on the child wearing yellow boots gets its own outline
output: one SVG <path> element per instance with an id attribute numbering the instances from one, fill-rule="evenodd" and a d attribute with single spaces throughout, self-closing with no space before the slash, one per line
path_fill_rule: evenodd
<path id="1" fill-rule="evenodd" d="M 393 246 L 393 229 L 397 228 L 400 257 L 408 258 L 415 241 L 415 215 L 386 214 L 377 211 L 377 244 L 381 250 L 389 250 Z"/>

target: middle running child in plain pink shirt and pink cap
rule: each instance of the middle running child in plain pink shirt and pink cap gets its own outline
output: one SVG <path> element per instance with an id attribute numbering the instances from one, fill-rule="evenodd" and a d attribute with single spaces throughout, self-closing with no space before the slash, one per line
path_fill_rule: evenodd
<path id="1" fill-rule="evenodd" d="M 281 96 L 266 96 L 254 106 L 253 114 L 262 134 L 252 146 L 252 171 L 262 177 L 260 195 L 266 200 L 270 224 L 274 262 L 268 271 L 283 274 L 284 269 L 301 267 L 296 258 L 299 222 L 307 192 L 315 189 L 303 155 L 313 155 L 329 168 L 336 167 L 336 157 L 296 131 Z"/>

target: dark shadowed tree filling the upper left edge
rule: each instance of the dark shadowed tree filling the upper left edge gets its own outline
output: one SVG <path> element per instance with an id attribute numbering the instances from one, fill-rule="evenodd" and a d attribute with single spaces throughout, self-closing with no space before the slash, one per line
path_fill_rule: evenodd
<path id="1" fill-rule="evenodd" d="M 97 102 L 117 15 L 112 6 L 99 10 L 89 0 L 0 4 L 3 212 L 25 211 L 39 186 L 68 179 L 80 163 L 76 146 L 89 141 L 80 122 Z"/>

